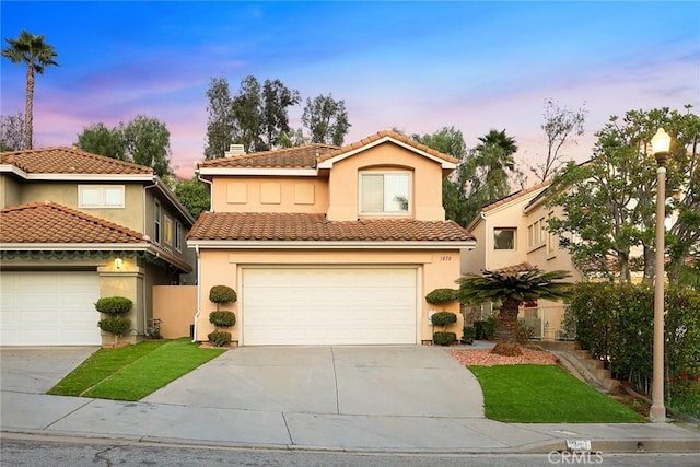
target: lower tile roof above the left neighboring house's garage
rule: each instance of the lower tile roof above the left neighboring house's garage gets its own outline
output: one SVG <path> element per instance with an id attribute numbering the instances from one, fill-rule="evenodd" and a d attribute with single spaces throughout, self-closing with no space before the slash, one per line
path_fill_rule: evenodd
<path id="1" fill-rule="evenodd" d="M 143 243 L 143 234 L 56 202 L 0 210 L 1 243 Z"/>

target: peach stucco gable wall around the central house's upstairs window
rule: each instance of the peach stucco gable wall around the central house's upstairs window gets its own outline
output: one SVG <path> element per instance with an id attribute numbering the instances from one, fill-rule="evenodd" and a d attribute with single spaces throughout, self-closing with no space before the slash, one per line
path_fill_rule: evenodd
<path id="1" fill-rule="evenodd" d="M 410 212 L 402 217 L 421 221 L 445 219 L 440 163 L 386 142 L 334 164 L 329 178 L 329 220 L 353 221 L 360 217 L 359 176 L 365 170 L 411 172 Z"/>

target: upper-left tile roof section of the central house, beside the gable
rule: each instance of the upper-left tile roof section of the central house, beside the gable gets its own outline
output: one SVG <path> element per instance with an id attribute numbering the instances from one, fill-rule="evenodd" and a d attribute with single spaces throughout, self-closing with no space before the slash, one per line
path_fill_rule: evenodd
<path id="1" fill-rule="evenodd" d="M 310 144 L 275 151 L 253 152 L 200 162 L 200 167 L 217 168 L 314 168 L 323 154 L 337 151 L 337 145 Z"/>

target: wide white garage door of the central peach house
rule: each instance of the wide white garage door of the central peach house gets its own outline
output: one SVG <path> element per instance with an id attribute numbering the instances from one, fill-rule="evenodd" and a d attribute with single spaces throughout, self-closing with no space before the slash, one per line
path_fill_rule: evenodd
<path id="1" fill-rule="evenodd" d="M 243 270 L 242 343 L 416 343 L 411 268 Z"/>

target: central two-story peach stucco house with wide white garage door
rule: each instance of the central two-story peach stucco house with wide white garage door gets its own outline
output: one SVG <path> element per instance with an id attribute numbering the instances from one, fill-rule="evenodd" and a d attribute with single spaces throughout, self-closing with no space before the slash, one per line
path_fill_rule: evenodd
<path id="1" fill-rule="evenodd" d="M 343 148 L 233 145 L 201 162 L 212 212 L 187 238 L 198 255 L 195 339 L 214 330 L 209 290 L 225 284 L 238 295 L 224 306 L 238 345 L 430 341 L 424 297 L 456 288 L 460 250 L 475 246 L 442 207 L 457 162 L 393 131 Z M 462 322 L 452 329 L 460 337 Z"/>

